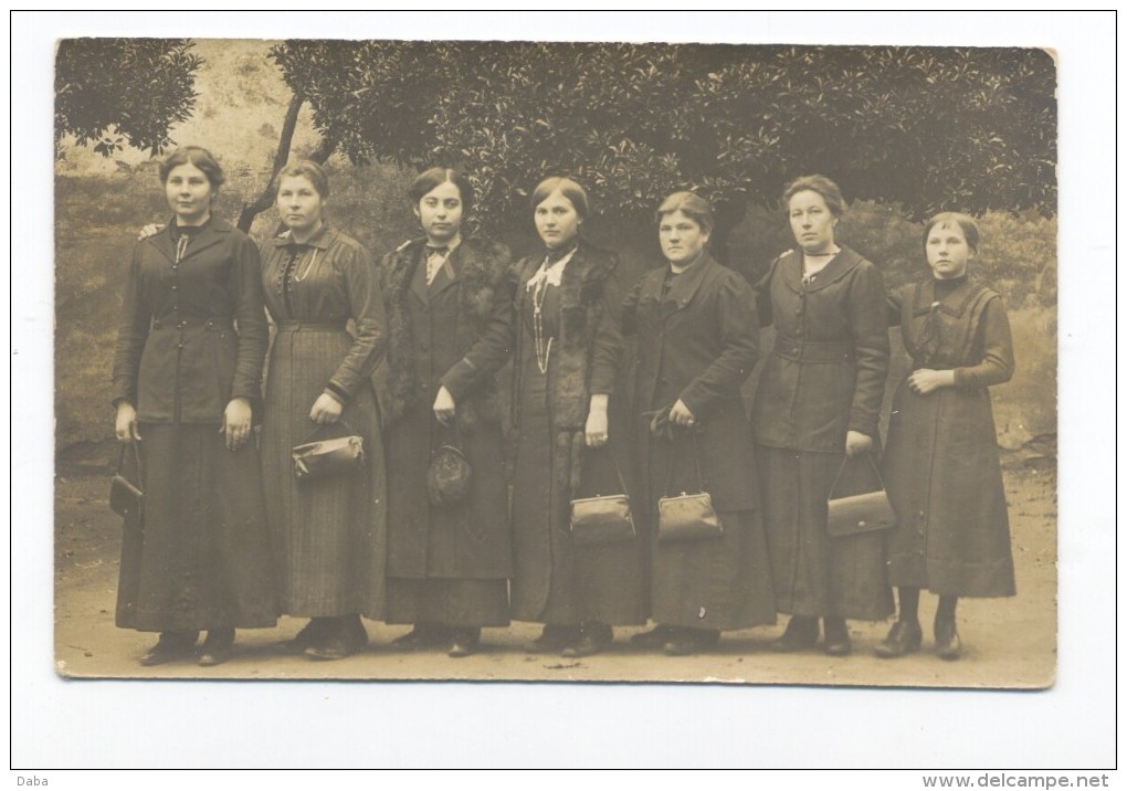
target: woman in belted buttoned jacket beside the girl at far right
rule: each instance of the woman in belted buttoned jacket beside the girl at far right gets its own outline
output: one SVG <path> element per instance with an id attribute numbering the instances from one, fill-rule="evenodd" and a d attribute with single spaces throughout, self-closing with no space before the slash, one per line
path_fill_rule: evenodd
<path id="1" fill-rule="evenodd" d="M 885 286 L 876 266 L 834 240 L 844 211 L 837 185 L 801 177 L 783 201 L 799 250 L 775 259 L 758 284 L 760 319 L 775 339 L 753 409 L 775 599 L 791 614 L 774 646 L 813 647 L 823 617 L 824 650 L 843 656 L 852 648 L 845 619 L 891 611 L 881 535 L 826 532 L 843 460 L 877 450 L 888 373 Z M 877 488 L 872 465 L 854 462 L 834 494 Z"/>

